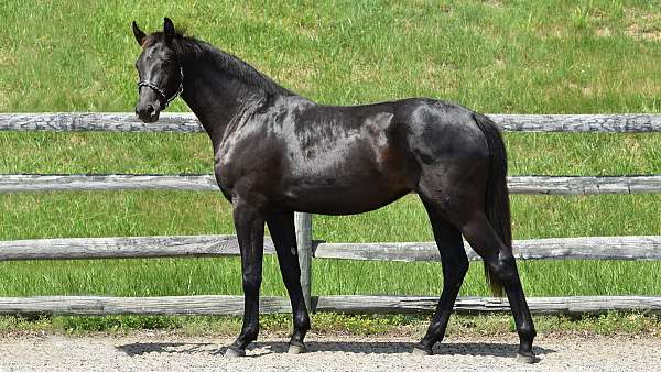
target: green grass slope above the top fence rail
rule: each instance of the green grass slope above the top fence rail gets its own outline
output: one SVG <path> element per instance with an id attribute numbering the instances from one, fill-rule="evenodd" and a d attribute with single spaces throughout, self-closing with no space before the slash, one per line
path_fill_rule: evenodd
<path id="1" fill-rule="evenodd" d="M 661 17 L 643 0 L 0 7 L 1 111 L 130 111 L 139 54 L 130 22 L 155 30 L 163 15 L 327 103 L 429 96 L 494 112 L 659 107 Z"/>

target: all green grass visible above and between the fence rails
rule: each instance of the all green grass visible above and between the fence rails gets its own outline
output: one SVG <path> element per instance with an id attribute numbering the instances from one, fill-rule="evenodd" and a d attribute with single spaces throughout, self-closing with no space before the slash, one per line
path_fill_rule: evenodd
<path id="1" fill-rule="evenodd" d="M 655 8 L 642 0 L 9 0 L 0 3 L 0 112 L 131 111 L 139 47 L 130 21 L 154 30 L 163 15 L 324 103 L 427 96 L 484 112 L 659 112 Z M 187 108 L 176 100 L 170 110 Z M 508 133 L 506 140 L 511 175 L 661 174 L 659 133 Z M 210 172 L 204 134 L 0 132 L 0 173 Z M 0 195 L 0 206 L 2 240 L 234 232 L 229 205 L 217 193 L 17 194 Z M 661 234 L 660 210 L 657 195 L 512 196 L 517 239 Z M 327 241 L 432 239 L 414 196 L 314 223 L 315 239 Z M 486 294 L 478 266 L 462 295 Z M 520 263 L 534 296 L 661 295 L 660 269 L 658 262 Z M 442 283 L 435 263 L 316 261 L 313 275 L 315 294 L 436 295 Z M 262 292 L 284 294 L 272 258 Z M 0 263 L 2 296 L 218 293 L 241 293 L 237 260 Z"/>

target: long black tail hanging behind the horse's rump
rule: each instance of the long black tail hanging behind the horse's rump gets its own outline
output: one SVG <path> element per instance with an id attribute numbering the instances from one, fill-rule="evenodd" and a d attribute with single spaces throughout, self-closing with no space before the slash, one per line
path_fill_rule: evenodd
<path id="1" fill-rule="evenodd" d="M 509 192 L 507 189 L 507 153 L 505 143 L 498 127 L 488 117 L 474 113 L 473 119 L 485 134 L 489 146 L 490 164 L 489 177 L 487 179 L 487 192 L 485 195 L 485 211 L 489 223 L 496 230 L 500 240 L 512 249 L 512 223 L 509 205 Z M 502 283 L 499 282 L 485 262 L 485 275 L 487 284 L 491 287 L 495 296 L 502 297 Z"/>

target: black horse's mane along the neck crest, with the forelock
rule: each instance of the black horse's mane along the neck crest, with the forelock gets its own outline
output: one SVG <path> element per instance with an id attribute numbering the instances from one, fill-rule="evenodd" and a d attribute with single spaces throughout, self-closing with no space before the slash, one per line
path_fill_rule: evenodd
<path id="1" fill-rule="evenodd" d="M 155 32 L 149 35 L 148 40 L 145 41 L 145 45 L 150 45 L 162 40 L 165 40 L 163 32 Z M 239 57 L 220 51 L 204 41 L 188 36 L 180 30 L 176 31 L 174 37 L 172 39 L 171 45 L 180 59 L 187 58 L 208 61 L 225 74 L 232 76 L 250 86 L 261 88 L 268 94 L 295 96 L 294 92 L 273 81 L 273 79 L 258 72 L 254 67 L 250 66 Z"/>

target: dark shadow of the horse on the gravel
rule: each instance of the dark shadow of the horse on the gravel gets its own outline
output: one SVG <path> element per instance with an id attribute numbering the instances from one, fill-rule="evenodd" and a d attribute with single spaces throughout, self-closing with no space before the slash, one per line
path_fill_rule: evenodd
<path id="1" fill-rule="evenodd" d="M 307 351 L 314 352 L 346 352 L 361 354 L 408 354 L 413 348 L 412 342 L 345 342 L 345 341 L 310 341 L 306 342 Z M 249 349 L 249 357 L 259 357 L 270 353 L 286 353 L 289 344 L 286 342 L 256 342 Z M 136 342 L 116 347 L 130 357 L 143 355 L 149 353 L 189 353 L 189 354 L 209 354 L 223 355 L 227 347 L 219 347 L 216 343 L 191 343 L 191 342 Z M 434 348 L 435 355 L 476 355 L 476 357 L 500 357 L 513 358 L 519 349 L 518 344 L 510 343 L 488 343 L 488 342 L 455 342 L 442 343 Z M 555 350 L 534 347 L 534 353 L 545 355 L 555 352 Z"/>

